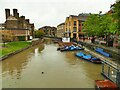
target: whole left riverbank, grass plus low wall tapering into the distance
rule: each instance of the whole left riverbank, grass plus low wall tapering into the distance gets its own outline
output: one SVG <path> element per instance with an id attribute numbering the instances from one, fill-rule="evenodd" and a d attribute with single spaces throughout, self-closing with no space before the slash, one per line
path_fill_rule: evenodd
<path id="1" fill-rule="evenodd" d="M 33 39 L 31 41 L 18 41 L 18 42 L 9 42 L 5 47 L 1 46 L 0 61 L 13 56 L 23 50 L 28 49 L 31 46 L 37 45 L 43 42 L 43 39 Z"/>

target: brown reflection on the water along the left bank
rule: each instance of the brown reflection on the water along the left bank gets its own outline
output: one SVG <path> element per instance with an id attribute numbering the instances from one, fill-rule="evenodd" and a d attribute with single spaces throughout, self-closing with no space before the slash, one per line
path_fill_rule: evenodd
<path id="1" fill-rule="evenodd" d="M 11 75 L 12 79 L 20 79 L 22 71 L 27 68 L 31 58 L 38 55 L 43 49 L 44 44 L 37 45 L 2 61 L 2 76 Z"/>

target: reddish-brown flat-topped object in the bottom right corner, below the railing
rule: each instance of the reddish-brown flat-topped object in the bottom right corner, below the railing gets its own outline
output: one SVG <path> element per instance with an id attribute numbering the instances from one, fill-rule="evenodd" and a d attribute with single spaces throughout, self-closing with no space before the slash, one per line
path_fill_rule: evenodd
<path id="1" fill-rule="evenodd" d="M 120 88 L 110 80 L 95 80 L 95 90 L 120 90 Z"/>

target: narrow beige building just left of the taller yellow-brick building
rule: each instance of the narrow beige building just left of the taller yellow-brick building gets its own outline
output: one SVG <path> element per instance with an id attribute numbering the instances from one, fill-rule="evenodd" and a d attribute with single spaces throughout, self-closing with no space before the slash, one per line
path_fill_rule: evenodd
<path id="1" fill-rule="evenodd" d="M 65 31 L 65 23 L 61 23 L 57 26 L 57 37 L 62 38 L 64 37 L 64 31 Z"/>

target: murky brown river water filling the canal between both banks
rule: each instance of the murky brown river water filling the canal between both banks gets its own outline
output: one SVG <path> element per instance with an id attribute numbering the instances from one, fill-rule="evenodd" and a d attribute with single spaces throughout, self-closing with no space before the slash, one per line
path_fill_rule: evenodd
<path id="1" fill-rule="evenodd" d="M 104 79 L 101 65 L 81 60 L 75 52 L 57 51 L 46 39 L 2 62 L 3 88 L 94 88 Z M 42 72 L 44 72 L 42 74 Z"/>

